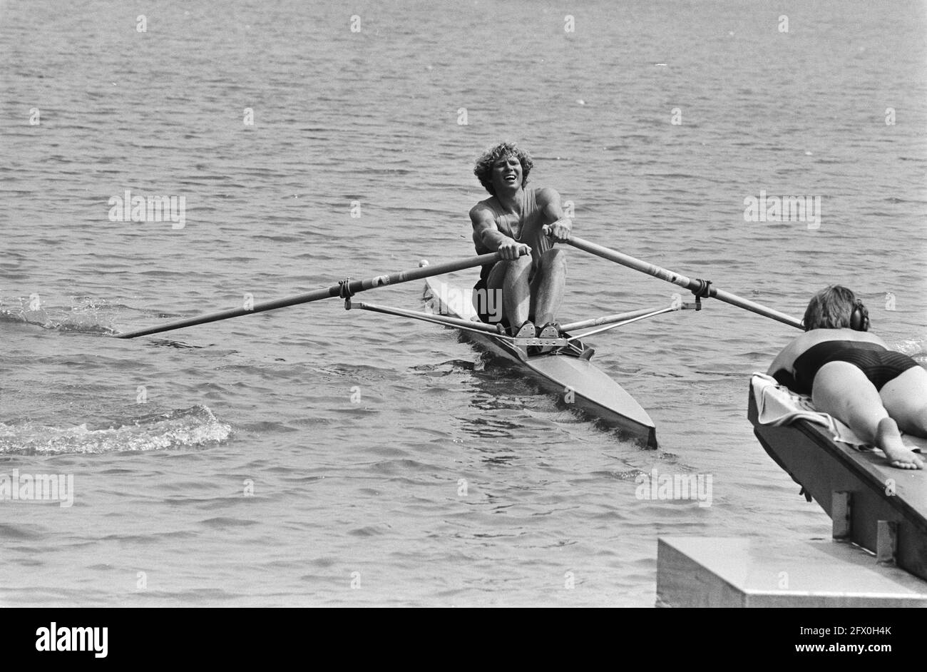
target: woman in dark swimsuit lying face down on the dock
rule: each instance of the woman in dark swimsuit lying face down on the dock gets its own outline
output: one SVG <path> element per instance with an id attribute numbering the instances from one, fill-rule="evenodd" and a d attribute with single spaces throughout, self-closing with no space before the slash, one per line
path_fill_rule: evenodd
<path id="1" fill-rule="evenodd" d="M 892 466 L 923 469 L 901 432 L 927 438 L 927 370 L 869 333 L 869 311 L 841 285 L 819 291 L 805 311 L 805 333 L 787 345 L 768 374 L 811 396 Z"/>

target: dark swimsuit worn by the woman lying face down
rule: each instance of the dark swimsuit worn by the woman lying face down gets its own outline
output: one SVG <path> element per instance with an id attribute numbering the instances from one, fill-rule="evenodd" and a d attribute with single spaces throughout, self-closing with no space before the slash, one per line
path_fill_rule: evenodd
<path id="1" fill-rule="evenodd" d="M 882 389 L 888 381 L 919 365 L 908 355 L 883 348 L 878 343 L 823 341 L 806 349 L 795 359 L 794 385 L 789 387 L 800 394 L 810 395 L 814 377 L 820 367 L 832 361 L 847 361 L 857 366 L 876 389 Z"/>

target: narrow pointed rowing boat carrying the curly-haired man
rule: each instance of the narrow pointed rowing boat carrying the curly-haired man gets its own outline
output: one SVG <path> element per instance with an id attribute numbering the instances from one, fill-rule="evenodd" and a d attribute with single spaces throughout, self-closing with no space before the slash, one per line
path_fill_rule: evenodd
<path id="1" fill-rule="evenodd" d="M 440 315 L 479 322 L 470 301 L 470 292 L 448 285 L 436 278 L 425 280 L 425 301 L 430 310 Z M 616 425 L 635 440 L 656 448 L 656 429 L 650 415 L 602 369 L 588 359 L 561 354 L 557 351 L 527 356 L 511 343 L 484 332 L 462 331 L 462 334 L 483 349 L 514 361 L 535 374 L 545 385 L 564 399 L 571 399 L 586 412 Z"/>

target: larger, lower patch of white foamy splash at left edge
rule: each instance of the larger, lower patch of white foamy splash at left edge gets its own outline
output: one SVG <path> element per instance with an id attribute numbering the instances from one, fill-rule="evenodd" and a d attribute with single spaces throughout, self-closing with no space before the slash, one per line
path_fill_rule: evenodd
<path id="1" fill-rule="evenodd" d="M 131 424 L 100 429 L 86 424 L 50 427 L 0 423 L 0 455 L 57 455 L 126 450 L 203 448 L 224 441 L 232 427 L 206 406 L 193 406 L 133 419 Z"/>

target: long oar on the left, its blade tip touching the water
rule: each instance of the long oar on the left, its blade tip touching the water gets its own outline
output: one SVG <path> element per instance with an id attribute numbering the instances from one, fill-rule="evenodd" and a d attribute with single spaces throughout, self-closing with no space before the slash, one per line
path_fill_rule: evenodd
<path id="1" fill-rule="evenodd" d="M 499 256 L 498 252 L 492 252 L 491 254 L 481 254 L 478 257 L 469 257 L 467 259 L 457 260 L 457 261 L 448 261 L 446 263 L 435 264 L 434 266 L 425 266 L 411 271 L 400 271 L 399 273 L 389 273 L 387 275 L 377 275 L 375 278 L 368 278 L 366 280 L 352 280 L 348 283 L 348 293 L 357 294 L 367 289 L 373 289 L 374 287 L 383 287 L 386 285 L 399 285 L 400 283 L 408 283 L 412 280 L 418 280 L 420 278 L 431 277 L 432 275 L 440 275 L 442 273 L 453 273 L 454 271 L 463 271 L 464 269 L 473 268 L 474 266 L 485 266 L 489 263 L 495 263 L 502 258 Z M 262 311 L 275 311 L 278 308 L 286 308 L 287 306 L 296 306 L 299 303 L 309 303 L 311 301 L 318 301 L 323 298 L 332 298 L 342 296 L 342 285 L 332 285 L 327 289 L 316 289 L 312 292 L 307 292 L 305 294 L 297 294 L 293 297 L 286 298 L 277 298 L 273 301 L 265 301 L 264 303 L 255 304 L 253 308 L 248 309 L 235 309 L 232 311 L 220 311 L 220 312 L 211 312 L 208 315 L 199 315 L 197 317 L 188 317 L 185 320 L 178 320 L 177 322 L 171 322 L 167 324 L 159 324 L 159 326 L 149 327 L 147 329 L 138 329 L 136 331 L 128 331 L 123 334 L 117 334 L 117 338 L 134 338 L 136 336 L 147 336 L 149 334 L 159 334 L 163 331 L 172 331 L 174 329 L 183 329 L 186 326 L 194 326 L 195 324 L 205 324 L 208 322 L 218 322 L 219 320 L 228 320 L 233 317 L 241 317 L 242 315 L 250 315 L 252 312 L 262 312 Z"/>

